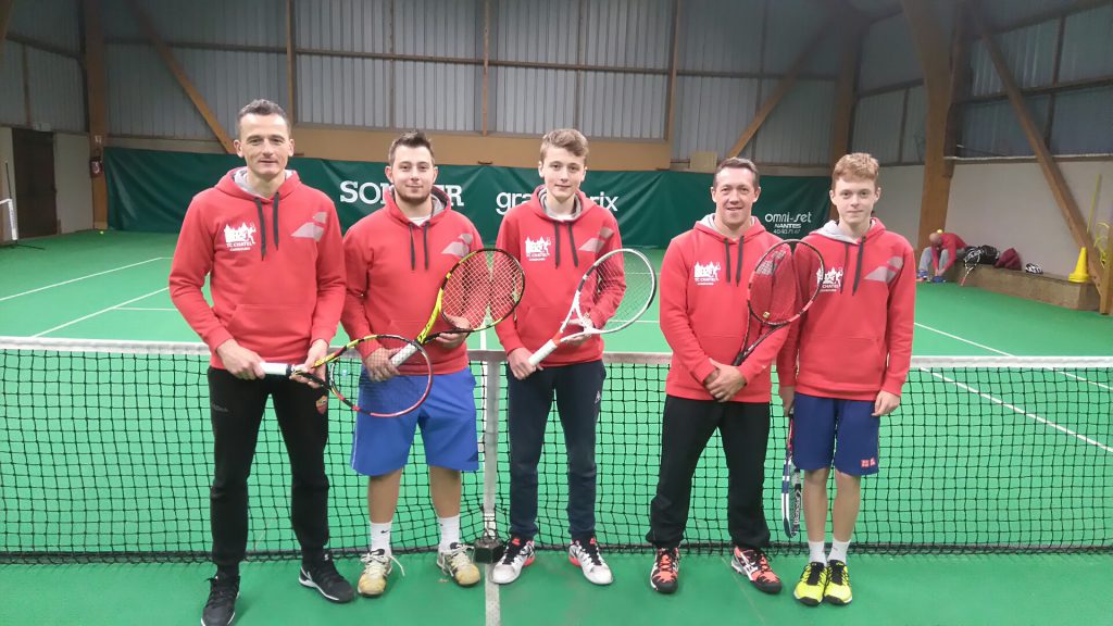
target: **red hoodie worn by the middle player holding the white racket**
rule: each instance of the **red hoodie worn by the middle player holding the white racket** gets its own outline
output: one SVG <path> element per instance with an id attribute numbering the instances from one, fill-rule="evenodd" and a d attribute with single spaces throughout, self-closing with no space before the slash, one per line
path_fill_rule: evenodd
<path id="1" fill-rule="evenodd" d="M 618 221 L 583 192 L 577 195 L 579 214 L 556 219 L 545 213 L 543 190 L 542 185 L 529 202 L 506 212 L 499 227 L 495 245 L 521 262 L 526 280 L 514 317 L 495 326 L 508 354 L 519 348 L 533 352 L 552 339 L 568 315 L 583 273 L 600 256 L 622 247 Z M 601 325 L 601 321 L 595 322 Z M 560 345 L 543 364 L 585 363 L 602 354 L 603 340 L 593 335 L 579 345 Z"/>

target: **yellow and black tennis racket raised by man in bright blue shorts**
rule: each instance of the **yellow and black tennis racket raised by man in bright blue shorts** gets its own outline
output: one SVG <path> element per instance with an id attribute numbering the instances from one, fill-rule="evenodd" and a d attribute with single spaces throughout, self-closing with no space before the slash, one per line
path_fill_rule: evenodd
<path id="1" fill-rule="evenodd" d="M 433 313 L 416 342 L 425 345 L 441 335 L 490 329 L 514 312 L 524 292 L 525 272 L 510 253 L 493 247 L 470 252 L 444 275 Z M 444 320 L 449 329 L 431 332 L 437 320 Z M 391 362 L 400 366 L 416 353 L 413 345 L 403 348 Z"/>

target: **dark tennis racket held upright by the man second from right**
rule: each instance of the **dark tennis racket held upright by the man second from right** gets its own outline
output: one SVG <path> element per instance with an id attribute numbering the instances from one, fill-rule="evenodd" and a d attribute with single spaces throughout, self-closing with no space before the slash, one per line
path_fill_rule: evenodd
<path id="1" fill-rule="evenodd" d="M 792 263 L 794 256 L 801 253 L 814 254 L 819 264 L 814 284 L 809 282 L 804 288 Z M 823 283 L 824 256 L 814 245 L 800 239 L 785 239 L 767 250 L 750 274 L 750 311 L 746 315 L 746 339 L 742 340 L 742 350 L 735 359 L 735 366 L 741 365 L 769 335 L 804 315 L 819 295 Z M 757 326 L 754 324 L 755 319 L 758 321 Z M 750 334 L 755 327 L 757 333 L 751 343 Z"/>

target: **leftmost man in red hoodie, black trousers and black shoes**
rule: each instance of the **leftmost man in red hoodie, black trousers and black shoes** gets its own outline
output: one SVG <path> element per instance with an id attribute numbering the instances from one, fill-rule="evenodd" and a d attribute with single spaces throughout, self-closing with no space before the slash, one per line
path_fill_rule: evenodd
<path id="1" fill-rule="evenodd" d="M 286 169 L 289 119 L 255 100 L 239 111 L 233 169 L 186 211 L 170 266 L 170 299 L 213 351 L 208 370 L 215 470 L 213 561 L 203 625 L 235 617 L 247 550 L 247 477 L 267 397 L 274 401 L 293 473 L 292 521 L 302 544 L 301 583 L 332 601 L 352 599 L 328 541 L 327 397 L 304 380 L 266 378 L 262 363 L 308 368 L 328 351 L 344 305 L 336 207 Z M 279 208 L 280 207 L 280 208 Z M 210 281 L 213 306 L 201 287 Z"/>

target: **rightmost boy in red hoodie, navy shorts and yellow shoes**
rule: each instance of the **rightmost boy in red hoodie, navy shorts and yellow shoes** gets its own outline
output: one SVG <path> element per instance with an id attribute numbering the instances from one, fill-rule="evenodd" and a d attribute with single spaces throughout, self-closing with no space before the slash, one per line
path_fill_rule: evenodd
<path id="1" fill-rule="evenodd" d="M 846 555 L 861 477 L 877 473 L 880 418 L 900 403 L 912 362 L 916 266 L 908 241 L 873 217 L 881 197 L 878 169 L 877 159 L 863 153 L 835 165 L 830 198 L 838 222 L 805 237 L 823 254 L 824 282 L 777 362 L 785 409 L 796 408 L 792 450 L 804 471 L 810 552 L 794 596 L 809 606 L 853 598 Z M 796 271 L 801 285 L 815 281 L 815 255 L 798 255 Z M 831 464 L 834 540 L 825 555 Z"/>

